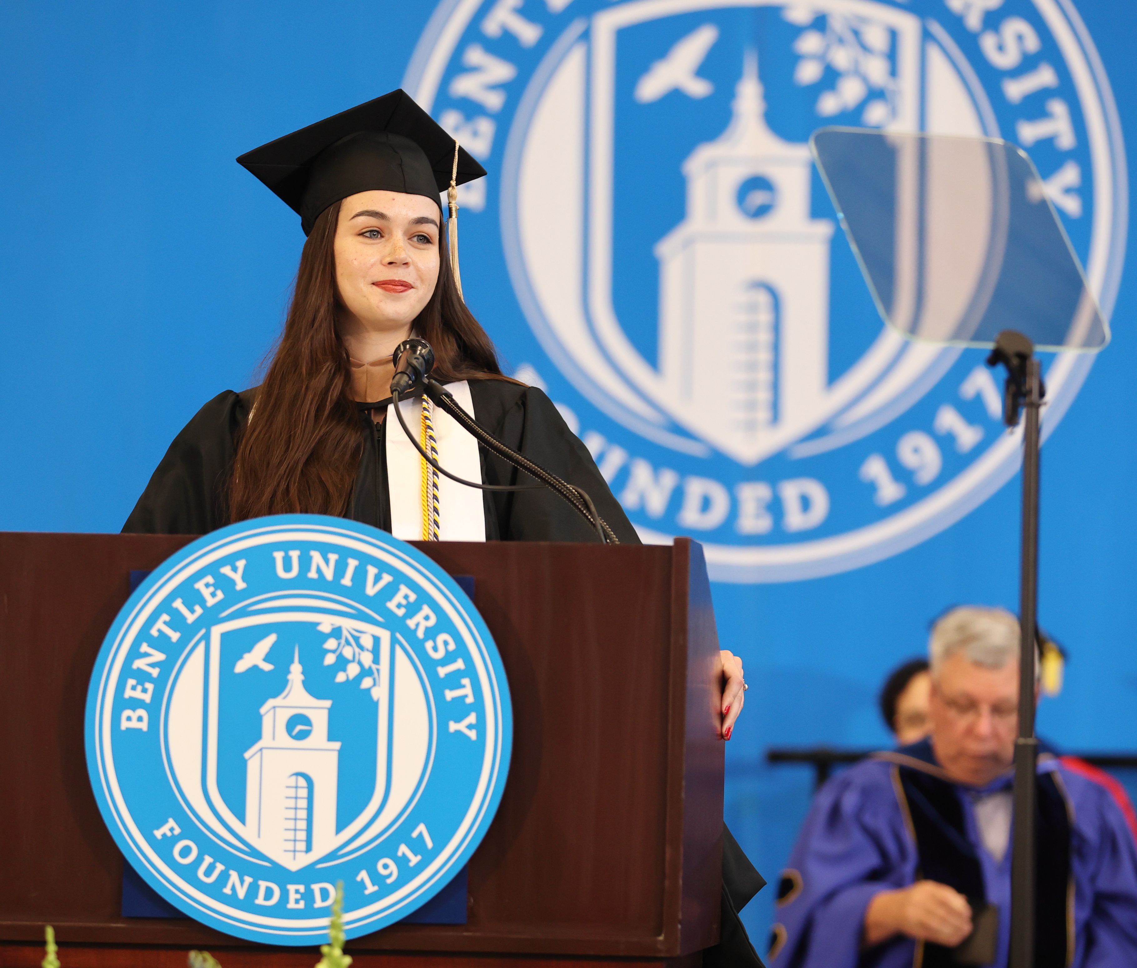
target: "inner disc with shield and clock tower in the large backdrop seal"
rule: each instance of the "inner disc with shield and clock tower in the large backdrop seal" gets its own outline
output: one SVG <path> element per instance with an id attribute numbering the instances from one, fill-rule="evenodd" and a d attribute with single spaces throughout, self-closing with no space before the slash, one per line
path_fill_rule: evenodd
<path id="1" fill-rule="evenodd" d="M 505 220 L 506 251 L 553 359 L 641 436 L 744 466 L 872 432 L 958 355 L 905 345 L 882 323 L 831 333 L 836 226 L 814 214 L 810 130 L 779 130 L 786 111 L 765 91 L 800 88 L 822 123 L 853 106 L 885 131 L 982 134 L 982 121 L 961 107 L 965 88 L 926 49 L 916 15 L 861 0 L 806 6 L 689 0 L 598 13 L 559 51 L 531 116 L 518 116 L 507 158 L 516 197 L 505 210 L 516 223 Z M 866 66 L 819 97 L 829 35 L 855 39 Z M 664 166 L 654 180 L 641 177 L 647 158 Z M 542 231 L 549 221 L 562 231 Z M 622 291 L 654 273 L 654 300 Z"/>

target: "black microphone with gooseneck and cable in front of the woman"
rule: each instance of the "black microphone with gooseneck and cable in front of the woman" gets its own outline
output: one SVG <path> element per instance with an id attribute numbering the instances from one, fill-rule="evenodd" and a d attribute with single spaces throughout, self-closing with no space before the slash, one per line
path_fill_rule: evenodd
<path id="1" fill-rule="evenodd" d="M 395 348 L 391 362 L 395 364 L 395 377 L 391 378 L 391 403 L 393 404 L 395 416 L 402 427 L 402 432 L 407 435 L 407 439 L 414 445 L 414 448 L 420 453 L 422 458 L 435 471 L 450 478 L 450 480 L 466 487 L 478 488 L 479 490 L 540 490 L 547 487 L 583 518 L 589 523 L 589 527 L 596 529 L 601 544 L 620 544 L 620 539 L 616 538 L 612 528 L 608 527 L 607 521 L 597 513 L 596 505 L 592 504 L 592 499 L 584 493 L 583 488 L 562 480 L 556 474 L 549 473 L 539 464 L 534 464 L 528 457 L 507 447 L 458 406 L 457 400 L 450 396 L 441 383 L 430 379 L 430 371 L 434 366 L 434 350 L 431 349 L 429 342 L 422 339 L 404 340 Z M 517 470 L 540 481 L 540 483 L 480 483 L 463 480 L 441 466 L 438 461 L 423 449 L 418 440 L 415 439 L 415 435 L 410 432 L 410 428 L 407 427 L 407 422 L 402 416 L 402 408 L 399 406 L 399 397 L 418 383 L 423 384 L 423 394 L 450 414 L 463 430 L 476 438 L 479 444 L 504 458 L 507 463 L 513 464 Z"/>

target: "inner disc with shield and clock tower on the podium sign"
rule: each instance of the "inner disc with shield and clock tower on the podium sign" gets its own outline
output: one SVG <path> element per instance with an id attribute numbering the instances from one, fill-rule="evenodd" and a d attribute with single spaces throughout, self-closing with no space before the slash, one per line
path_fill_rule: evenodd
<path id="1" fill-rule="evenodd" d="M 382 617 L 265 596 L 199 634 L 171 694 L 181 794 L 231 850 L 299 870 L 365 849 L 429 772 L 422 670 Z"/>

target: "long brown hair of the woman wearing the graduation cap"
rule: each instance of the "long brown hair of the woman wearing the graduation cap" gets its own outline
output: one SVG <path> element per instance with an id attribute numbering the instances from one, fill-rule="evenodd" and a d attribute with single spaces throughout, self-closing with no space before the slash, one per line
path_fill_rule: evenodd
<path id="1" fill-rule="evenodd" d="M 284 331 L 238 442 L 230 521 L 348 512 L 363 440 L 348 350 L 335 325 L 339 215 L 340 202 L 325 209 L 300 253 Z M 458 295 L 446 232 L 439 237 L 438 283 L 412 328 L 433 347 L 433 373 L 442 382 L 500 378 L 493 344 Z"/>

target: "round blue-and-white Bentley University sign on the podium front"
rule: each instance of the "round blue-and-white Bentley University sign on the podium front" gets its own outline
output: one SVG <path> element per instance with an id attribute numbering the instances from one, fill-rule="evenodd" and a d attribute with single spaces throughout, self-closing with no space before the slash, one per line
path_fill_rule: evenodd
<path id="1" fill-rule="evenodd" d="M 279 944 L 406 917 L 497 809 L 509 693 L 481 618 L 408 545 L 282 515 L 179 552 L 107 634 L 88 767 L 126 859 L 219 930 Z"/>

